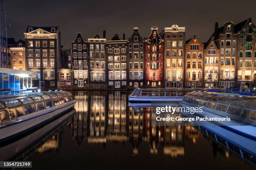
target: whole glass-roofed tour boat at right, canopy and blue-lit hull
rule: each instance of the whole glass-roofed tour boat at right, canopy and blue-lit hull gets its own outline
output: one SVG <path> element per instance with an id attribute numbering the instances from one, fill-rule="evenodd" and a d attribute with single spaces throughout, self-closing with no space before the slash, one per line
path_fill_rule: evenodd
<path id="1" fill-rule="evenodd" d="M 189 92 L 180 104 L 182 107 L 202 107 L 203 112 L 194 114 L 200 117 L 229 117 L 230 121 L 215 121 L 215 125 L 256 139 L 256 100 L 244 96 Z"/>

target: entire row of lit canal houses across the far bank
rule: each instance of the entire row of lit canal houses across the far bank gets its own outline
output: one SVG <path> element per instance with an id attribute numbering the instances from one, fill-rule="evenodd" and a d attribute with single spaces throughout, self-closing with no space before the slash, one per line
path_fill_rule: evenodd
<path id="1" fill-rule="evenodd" d="M 251 18 L 220 27 L 215 23 L 205 43 L 196 35 L 187 38 L 179 25 L 151 27 L 147 38 L 137 27 L 128 38 L 115 34 L 107 40 L 105 30 L 100 35 L 84 39 L 77 33 L 71 50 L 64 51 L 59 27 L 28 26 L 25 41 L 10 48 L 10 68 L 36 72 L 33 86 L 42 89 L 255 86 L 256 27 Z"/>

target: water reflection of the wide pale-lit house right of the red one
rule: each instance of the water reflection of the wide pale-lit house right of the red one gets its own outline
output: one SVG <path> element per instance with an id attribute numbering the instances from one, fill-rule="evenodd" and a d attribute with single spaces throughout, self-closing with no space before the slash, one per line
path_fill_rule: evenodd
<path id="1" fill-rule="evenodd" d="M 164 154 L 184 155 L 184 126 L 164 126 Z"/>

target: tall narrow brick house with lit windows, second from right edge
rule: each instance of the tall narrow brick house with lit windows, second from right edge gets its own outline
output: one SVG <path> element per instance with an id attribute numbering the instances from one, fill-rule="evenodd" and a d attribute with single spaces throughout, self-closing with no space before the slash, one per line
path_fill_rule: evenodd
<path id="1" fill-rule="evenodd" d="M 230 26 L 230 30 L 228 30 L 229 29 L 228 26 Z M 227 35 L 230 35 L 230 38 L 228 38 Z M 234 45 L 233 45 L 233 41 L 236 42 Z M 227 42 L 230 42 L 230 45 Z M 220 43 L 219 86 L 220 88 L 226 88 L 226 87 L 230 88 L 234 86 L 234 80 L 236 75 L 236 57 L 237 57 L 237 53 L 236 53 L 237 33 L 234 30 L 233 22 L 224 23 L 224 30 L 223 30 L 223 33 L 220 33 L 219 43 Z"/>

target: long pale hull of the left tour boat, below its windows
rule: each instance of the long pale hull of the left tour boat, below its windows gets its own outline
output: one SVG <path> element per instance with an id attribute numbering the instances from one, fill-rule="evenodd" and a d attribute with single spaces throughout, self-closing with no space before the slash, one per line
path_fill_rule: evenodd
<path id="1" fill-rule="evenodd" d="M 20 117 L 20 119 L 16 119 L 15 122 L 11 122 L 10 124 L 1 126 L 0 142 L 3 140 L 8 140 L 11 137 L 15 137 L 18 134 L 24 133 L 30 129 L 33 129 L 40 124 L 44 124 L 50 119 L 53 119 L 54 117 L 74 107 L 75 102 L 75 100 L 68 101 L 67 103 L 61 104 L 60 106 L 51 107 L 49 109 L 44 109 L 39 113 L 35 112 L 31 115 Z"/>

